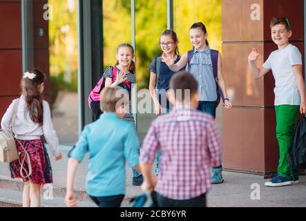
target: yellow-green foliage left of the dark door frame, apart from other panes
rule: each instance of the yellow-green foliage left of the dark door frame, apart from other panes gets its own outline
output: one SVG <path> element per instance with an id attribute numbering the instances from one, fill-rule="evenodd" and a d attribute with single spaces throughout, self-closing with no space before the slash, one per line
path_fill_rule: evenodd
<path id="1" fill-rule="evenodd" d="M 49 0 L 50 78 L 53 88 L 77 92 L 77 1 Z"/>

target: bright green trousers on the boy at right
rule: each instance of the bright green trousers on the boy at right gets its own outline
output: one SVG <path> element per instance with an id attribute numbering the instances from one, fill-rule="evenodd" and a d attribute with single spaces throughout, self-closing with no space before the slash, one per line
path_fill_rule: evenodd
<path id="1" fill-rule="evenodd" d="M 298 117 L 298 105 L 275 106 L 276 112 L 276 138 L 280 149 L 280 160 L 278 162 L 278 174 L 290 178 L 291 175 L 298 177 L 298 171 L 291 173 L 291 166 L 288 160 L 288 149 L 294 136 L 294 123 Z"/>

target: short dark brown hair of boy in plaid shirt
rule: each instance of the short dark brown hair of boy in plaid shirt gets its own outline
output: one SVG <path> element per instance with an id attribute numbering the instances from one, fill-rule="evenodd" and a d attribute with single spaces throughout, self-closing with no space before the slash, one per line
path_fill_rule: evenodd
<path id="1" fill-rule="evenodd" d="M 185 98 L 190 98 L 198 91 L 198 82 L 195 78 L 186 70 L 181 70 L 171 77 L 170 89 L 173 90 L 175 99 L 183 102 Z M 182 97 L 178 96 L 178 90 L 182 91 Z M 185 92 L 190 92 L 190 97 L 185 97 Z"/>

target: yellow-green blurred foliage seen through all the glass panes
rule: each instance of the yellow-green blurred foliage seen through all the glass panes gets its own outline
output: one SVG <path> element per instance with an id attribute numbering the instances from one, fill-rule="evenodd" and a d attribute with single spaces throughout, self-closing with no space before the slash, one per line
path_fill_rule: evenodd
<path id="1" fill-rule="evenodd" d="M 77 1 L 49 0 L 50 76 L 59 90 L 77 91 Z M 103 1 L 104 68 L 116 62 L 119 44 L 131 44 L 131 0 Z M 192 48 L 189 28 L 202 21 L 211 48 L 221 50 L 221 0 L 174 0 L 174 30 L 180 54 Z M 151 61 L 161 55 L 160 34 L 166 29 L 166 0 L 135 0 L 137 88 L 148 88 Z M 102 74 L 102 73 L 101 73 Z"/>

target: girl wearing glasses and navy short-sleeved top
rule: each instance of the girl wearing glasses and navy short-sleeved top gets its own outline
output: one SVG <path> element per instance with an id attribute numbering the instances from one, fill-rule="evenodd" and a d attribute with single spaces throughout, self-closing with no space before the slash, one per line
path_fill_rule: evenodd
<path id="1" fill-rule="evenodd" d="M 178 37 L 173 30 L 164 30 L 160 35 L 160 48 L 163 53 L 169 53 L 177 63 L 180 61 L 180 52 L 178 51 Z M 150 71 L 150 95 L 155 104 L 155 114 L 157 116 L 170 112 L 170 103 L 166 99 L 166 91 L 169 90 L 169 82 L 175 74 L 160 57 L 155 57 L 149 66 Z M 157 153 L 155 175 L 159 172 L 160 152 Z"/>

